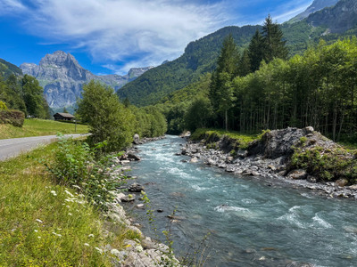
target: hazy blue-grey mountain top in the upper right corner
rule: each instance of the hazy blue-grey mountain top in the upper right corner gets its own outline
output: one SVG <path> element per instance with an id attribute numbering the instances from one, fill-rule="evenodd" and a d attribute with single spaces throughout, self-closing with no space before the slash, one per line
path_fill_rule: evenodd
<path id="1" fill-rule="evenodd" d="M 357 1 L 340 0 L 335 6 L 312 13 L 306 20 L 313 27 L 325 26 L 328 32 L 343 33 L 357 26 Z"/>

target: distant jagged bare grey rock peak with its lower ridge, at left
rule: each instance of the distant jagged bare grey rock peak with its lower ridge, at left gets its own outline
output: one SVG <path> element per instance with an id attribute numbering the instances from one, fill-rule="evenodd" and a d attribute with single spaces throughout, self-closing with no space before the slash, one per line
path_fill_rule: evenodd
<path id="1" fill-rule="evenodd" d="M 56 51 L 46 54 L 38 65 L 23 63 L 20 68 L 24 74 L 36 77 L 44 87 L 46 101 L 51 108 L 63 108 L 72 106 L 80 97 L 83 85 L 92 79 L 118 90 L 153 67 L 130 69 L 125 76 L 96 76 L 83 69 L 71 53 Z"/>

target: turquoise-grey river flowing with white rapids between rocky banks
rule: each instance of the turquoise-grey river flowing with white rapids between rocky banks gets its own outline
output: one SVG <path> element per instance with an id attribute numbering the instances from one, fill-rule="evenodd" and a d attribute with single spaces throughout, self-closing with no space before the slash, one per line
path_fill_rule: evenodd
<path id="1" fill-rule="evenodd" d="M 130 173 L 145 185 L 159 239 L 170 225 L 176 255 L 192 252 L 210 232 L 204 266 L 357 266 L 357 202 L 182 162 L 189 158 L 175 153 L 184 142 L 169 135 L 139 146 L 142 160 Z M 138 203 L 127 206 L 129 214 L 155 238 Z"/>

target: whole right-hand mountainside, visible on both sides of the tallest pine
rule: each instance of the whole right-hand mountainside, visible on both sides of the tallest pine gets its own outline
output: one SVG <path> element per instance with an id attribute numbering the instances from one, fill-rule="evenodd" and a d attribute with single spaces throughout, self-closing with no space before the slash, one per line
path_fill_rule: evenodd
<path id="1" fill-rule="evenodd" d="M 333 2 L 315 0 L 311 6 L 317 10 L 320 6 L 327 4 L 333 4 Z M 340 0 L 335 6 L 313 12 L 304 20 L 282 24 L 281 29 L 286 38 L 289 55 L 303 53 L 311 45 L 318 44 L 320 38 L 333 42 L 339 37 L 355 36 L 357 28 L 353 29 L 353 25 L 357 19 L 356 4 L 356 0 Z M 195 83 L 205 73 L 215 69 L 225 36 L 232 34 L 242 52 L 249 44 L 255 30 L 261 28 L 262 26 L 259 25 L 220 28 L 208 36 L 187 44 L 185 53 L 177 60 L 150 69 L 135 81 L 124 85 L 117 93 L 121 99 L 129 98 L 129 101 L 137 106 L 155 104 L 170 93 Z M 344 31 L 351 28 L 353 30 Z M 336 32 L 336 29 L 339 33 L 329 34 L 329 32 Z"/>

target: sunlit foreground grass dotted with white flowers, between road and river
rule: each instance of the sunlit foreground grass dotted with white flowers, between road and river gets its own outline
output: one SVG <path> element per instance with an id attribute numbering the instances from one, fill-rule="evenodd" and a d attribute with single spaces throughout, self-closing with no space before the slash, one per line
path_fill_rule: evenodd
<path id="1" fill-rule="evenodd" d="M 56 146 L 0 162 L 0 266 L 110 266 L 110 253 L 97 248 L 140 238 L 54 183 L 38 161 Z"/>

